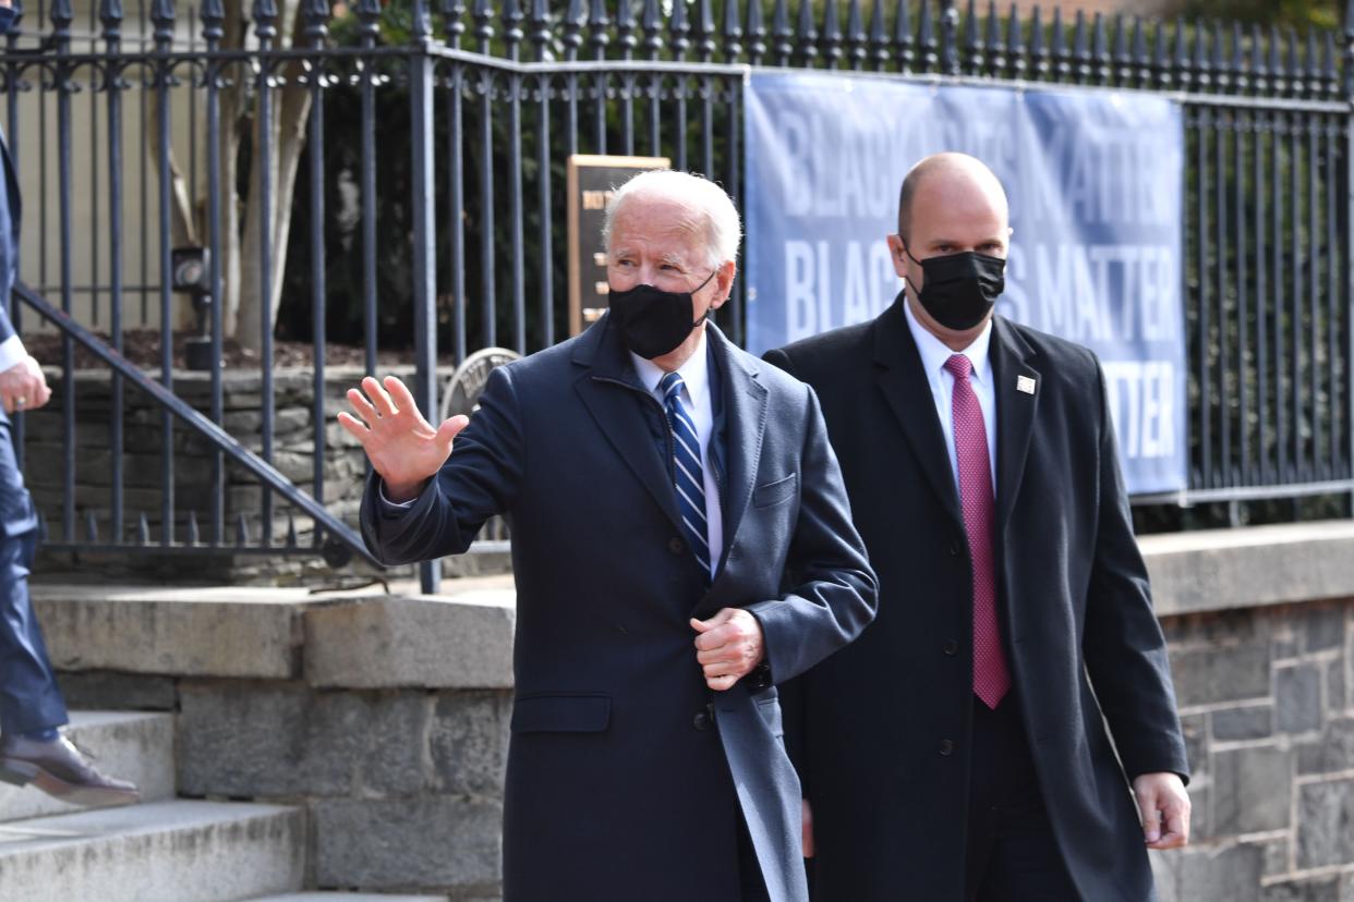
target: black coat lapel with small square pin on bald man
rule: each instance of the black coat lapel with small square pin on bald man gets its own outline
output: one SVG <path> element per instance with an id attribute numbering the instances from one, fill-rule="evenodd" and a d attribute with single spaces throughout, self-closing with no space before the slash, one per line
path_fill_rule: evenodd
<path id="1" fill-rule="evenodd" d="M 988 348 L 997 394 L 997 527 L 1010 519 L 1025 475 L 1025 457 L 1039 410 L 1040 373 L 1030 366 L 1034 352 L 1009 322 L 992 319 Z M 1025 391 L 1022 391 L 1022 388 Z"/>

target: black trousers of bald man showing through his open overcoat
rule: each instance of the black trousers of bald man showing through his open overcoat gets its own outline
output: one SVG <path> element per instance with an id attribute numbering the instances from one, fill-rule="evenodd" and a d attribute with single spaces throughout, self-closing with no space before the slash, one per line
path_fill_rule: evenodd
<path id="1" fill-rule="evenodd" d="M 1011 692 L 995 711 L 974 699 L 968 814 L 969 902 L 1076 902 Z"/>

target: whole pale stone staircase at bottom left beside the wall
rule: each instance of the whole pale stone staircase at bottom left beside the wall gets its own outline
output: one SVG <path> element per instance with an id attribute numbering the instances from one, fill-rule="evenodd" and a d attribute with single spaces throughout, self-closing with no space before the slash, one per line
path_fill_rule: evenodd
<path id="1" fill-rule="evenodd" d="M 0 786 L 0 899 L 445 902 L 436 895 L 302 893 L 305 811 L 176 798 L 172 714 L 76 713 L 69 736 L 102 769 L 134 780 L 142 801 L 74 809 L 34 788 Z"/>

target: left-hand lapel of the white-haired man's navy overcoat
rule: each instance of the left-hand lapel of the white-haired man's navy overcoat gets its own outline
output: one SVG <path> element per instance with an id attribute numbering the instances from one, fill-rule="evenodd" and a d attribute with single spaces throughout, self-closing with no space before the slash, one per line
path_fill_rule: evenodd
<path id="1" fill-rule="evenodd" d="M 672 475 L 666 461 L 655 453 L 655 437 L 650 431 L 651 418 L 640 414 L 645 387 L 635 376 L 635 368 L 624 346 L 608 329 L 607 321 L 593 325 L 578 342 L 574 364 L 584 368 L 574 383 L 578 396 L 620 458 L 635 473 L 649 494 L 662 508 L 673 529 L 681 534 L 681 517 L 673 492 Z M 657 400 L 654 402 L 657 406 Z"/>

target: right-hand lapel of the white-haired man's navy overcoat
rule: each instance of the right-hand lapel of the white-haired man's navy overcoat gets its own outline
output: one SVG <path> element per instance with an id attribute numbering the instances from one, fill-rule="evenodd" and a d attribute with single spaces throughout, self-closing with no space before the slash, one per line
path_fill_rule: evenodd
<path id="1" fill-rule="evenodd" d="M 762 435 L 766 431 L 766 387 L 757 381 L 757 373 L 734 354 L 728 339 L 712 323 L 705 327 L 715 366 L 719 368 L 723 399 L 723 462 L 728 473 L 728 487 L 723 498 L 724 548 L 720 552 L 715 577 L 724 572 L 728 549 L 738 536 L 738 525 L 747 510 L 761 460 Z M 715 437 L 718 441 L 720 435 Z"/>

